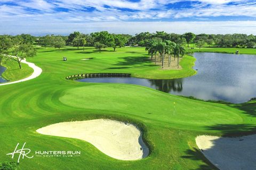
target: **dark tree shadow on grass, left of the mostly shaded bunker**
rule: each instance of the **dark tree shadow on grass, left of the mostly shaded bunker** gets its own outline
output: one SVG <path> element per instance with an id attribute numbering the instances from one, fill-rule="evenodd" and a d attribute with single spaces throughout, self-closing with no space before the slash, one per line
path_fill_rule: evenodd
<path id="1" fill-rule="evenodd" d="M 200 165 L 198 168 L 193 170 L 212 170 L 212 169 L 218 169 L 215 167 L 207 158 L 204 157 L 201 151 L 197 148 L 193 149 L 187 149 L 185 151 L 185 156 L 182 156 L 182 158 L 191 159 L 191 160 L 202 160 L 205 164 Z"/>

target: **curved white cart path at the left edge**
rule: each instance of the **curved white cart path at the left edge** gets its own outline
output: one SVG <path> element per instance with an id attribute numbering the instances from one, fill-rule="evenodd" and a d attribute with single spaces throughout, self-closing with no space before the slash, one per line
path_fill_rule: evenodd
<path id="1" fill-rule="evenodd" d="M 26 58 L 24 60 L 21 60 L 21 63 L 28 64 L 28 66 L 31 67 L 34 70 L 33 74 L 31 74 L 29 77 L 27 77 L 25 79 L 21 79 L 21 80 L 17 80 L 17 81 L 12 81 L 12 82 L 6 82 L 6 83 L 0 83 L 0 86 L 4 86 L 4 85 L 7 85 L 7 84 L 14 84 L 14 83 L 19 83 L 19 82 L 35 79 L 35 78 L 37 78 L 42 73 L 42 69 L 40 67 L 36 66 L 34 63 L 27 62 Z"/>

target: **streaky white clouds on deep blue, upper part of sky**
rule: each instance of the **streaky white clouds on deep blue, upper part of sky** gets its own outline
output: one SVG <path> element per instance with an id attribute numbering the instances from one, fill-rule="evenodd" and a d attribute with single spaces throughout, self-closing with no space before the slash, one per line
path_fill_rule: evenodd
<path id="1" fill-rule="evenodd" d="M 256 21 L 254 0 L 1 0 L 11 25 L 88 22 Z M 36 25 L 35 25 L 36 26 Z M 0 25 L 0 28 L 3 27 Z M 36 28 L 36 27 L 35 27 Z M 39 29 L 39 27 L 37 27 Z M 3 30 L 2 30 L 3 32 Z"/>

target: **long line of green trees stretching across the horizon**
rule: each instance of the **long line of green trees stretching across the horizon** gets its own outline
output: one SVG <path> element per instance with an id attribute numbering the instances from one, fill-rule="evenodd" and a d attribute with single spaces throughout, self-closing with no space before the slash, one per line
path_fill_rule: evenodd
<path id="1" fill-rule="evenodd" d="M 214 35 L 214 34 L 199 34 L 187 32 L 183 35 L 177 33 L 167 33 L 164 31 L 156 31 L 155 33 L 141 32 L 135 36 L 126 34 L 111 34 L 107 31 L 93 32 L 84 34 L 80 32 L 70 33 L 69 36 L 60 35 L 46 35 L 42 37 L 35 37 L 28 34 L 18 36 L 3 35 L 0 36 L 22 42 L 23 44 L 36 44 L 43 47 L 61 48 L 65 45 L 85 47 L 94 46 L 99 50 L 105 47 L 113 47 L 115 50 L 124 46 L 143 46 L 146 47 L 152 39 L 161 41 L 172 41 L 176 44 L 189 46 L 207 47 L 239 47 L 239 48 L 255 48 L 256 36 L 246 34 L 227 34 L 227 35 Z M 1 46 L 0 46 L 1 48 Z"/>

